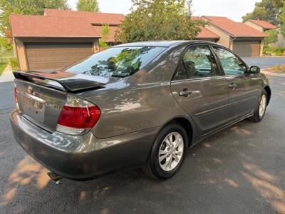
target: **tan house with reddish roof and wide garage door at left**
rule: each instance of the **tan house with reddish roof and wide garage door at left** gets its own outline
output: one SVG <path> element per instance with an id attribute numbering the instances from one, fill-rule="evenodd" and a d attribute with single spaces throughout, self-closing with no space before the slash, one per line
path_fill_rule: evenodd
<path id="1" fill-rule="evenodd" d="M 110 26 L 108 42 L 123 14 L 46 9 L 43 16 L 9 16 L 14 56 L 21 71 L 63 68 L 99 51 L 103 24 Z"/>

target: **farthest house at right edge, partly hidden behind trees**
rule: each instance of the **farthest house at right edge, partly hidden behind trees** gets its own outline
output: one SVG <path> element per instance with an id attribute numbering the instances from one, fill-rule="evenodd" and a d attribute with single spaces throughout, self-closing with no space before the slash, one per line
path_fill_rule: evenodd
<path id="1" fill-rule="evenodd" d="M 274 24 L 269 23 L 268 21 L 264 20 L 249 20 L 244 22 L 244 24 L 247 24 L 248 26 L 251 26 L 254 29 L 257 29 L 261 32 L 266 32 L 272 29 L 279 29 L 279 26 L 276 26 Z M 278 34 L 277 42 L 272 44 L 274 47 L 285 47 L 285 38 L 282 36 L 282 34 Z"/>

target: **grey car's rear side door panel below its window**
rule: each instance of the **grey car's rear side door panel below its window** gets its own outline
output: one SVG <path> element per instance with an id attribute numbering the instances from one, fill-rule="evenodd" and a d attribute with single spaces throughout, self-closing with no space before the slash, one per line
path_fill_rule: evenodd
<path id="1" fill-rule="evenodd" d="M 223 76 L 172 81 L 171 88 L 177 103 L 192 116 L 199 134 L 229 121 L 227 81 Z M 191 93 L 180 96 L 179 93 L 185 88 Z"/>

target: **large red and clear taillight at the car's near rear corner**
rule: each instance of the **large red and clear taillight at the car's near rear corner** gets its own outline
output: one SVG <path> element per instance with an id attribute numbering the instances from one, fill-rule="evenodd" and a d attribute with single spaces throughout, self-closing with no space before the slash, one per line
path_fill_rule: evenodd
<path id="1" fill-rule="evenodd" d="M 68 96 L 58 117 L 56 131 L 80 135 L 95 126 L 100 118 L 100 108 L 81 98 Z"/>

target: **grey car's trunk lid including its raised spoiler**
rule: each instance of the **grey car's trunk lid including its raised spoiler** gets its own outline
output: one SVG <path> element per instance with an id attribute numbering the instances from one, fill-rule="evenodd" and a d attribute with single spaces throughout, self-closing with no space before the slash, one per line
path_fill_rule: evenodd
<path id="1" fill-rule="evenodd" d="M 56 131 L 67 93 L 100 88 L 108 80 L 63 71 L 14 72 L 19 111 L 46 131 Z M 96 81 L 95 81 L 96 79 Z"/>

